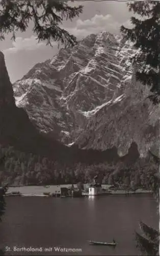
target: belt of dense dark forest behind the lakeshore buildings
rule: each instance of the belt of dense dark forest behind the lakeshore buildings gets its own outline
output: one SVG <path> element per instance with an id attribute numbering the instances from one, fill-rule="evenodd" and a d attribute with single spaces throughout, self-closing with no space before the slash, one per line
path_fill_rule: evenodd
<path id="1" fill-rule="evenodd" d="M 157 173 L 159 166 L 150 153 L 131 164 L 119 161 L 90 165 L 80 162 L 64 164 L 4 146 L 0 146 L 0 156 L 5 156 L 0 182 L 10 186 L 88 183 L 98 175 L 102 184 L 148 188 L 154 183 L 153 174 Z"/>

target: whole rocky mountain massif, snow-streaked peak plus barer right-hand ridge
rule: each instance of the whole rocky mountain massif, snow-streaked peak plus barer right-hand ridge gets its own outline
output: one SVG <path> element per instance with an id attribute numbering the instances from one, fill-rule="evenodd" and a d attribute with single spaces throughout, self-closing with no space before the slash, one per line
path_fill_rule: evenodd
<path id="1" fill-rule="evenodd" d="M 134 53 L 119 36 L 91 34 L 15 82 L 16 105 L 40 132 L 68 146 L 116 147 L 122 156 L 136 142 L 145 155 L 159 140 L 159 106 L 151 104 L 149 90 L 136 82 L 137 67 L 129 60 Z"/>

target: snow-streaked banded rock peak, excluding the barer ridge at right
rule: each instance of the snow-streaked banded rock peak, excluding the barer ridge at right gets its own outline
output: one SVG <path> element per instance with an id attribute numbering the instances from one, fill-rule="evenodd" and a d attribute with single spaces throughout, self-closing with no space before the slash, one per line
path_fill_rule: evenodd
<path id="1" fill-rule="evenodd" d="M 108 115 L 114 108 L 123 112 L 121 106 L 131 86 L 133 54 L 132 44 L 121 36 L 106 31 L 91 34 L 73 48 L 60 49 L 52 59 L 38 63 L 15 82 L 16 104 L 28 112 L 40 131 L 56 134 L 67 145 L 76 141 L 84 147 L 85 140 L 85 148 L 96 148 L 95 136 L 91 139 L 85 130 L 102 140 L 104 133 L 97 135 L 96 131 L 103 130 L 96 126 L 91 132 L 91 127 L 99 120 L 104 122 L 102 114 L 110 119 Z M 118 129 L 118 124 L 114 125 Z M 105 129 L 109 127 L 112 129 L 108 123 Z M 105 136 L 108 138 L 106 133 Z M 103 145 L 95 141 L 100 149 L 114 145 L 113 141 Z"/>

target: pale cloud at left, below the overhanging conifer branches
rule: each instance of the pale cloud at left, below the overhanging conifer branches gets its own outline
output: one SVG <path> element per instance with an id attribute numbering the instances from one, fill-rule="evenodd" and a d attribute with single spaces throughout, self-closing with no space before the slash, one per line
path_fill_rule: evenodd
<path id="1" fill-rule="evenodd" d="M 33 51 L 40 47 L 45 46 L 45 42 L 38 42 L 36 36 L 31 36 L 29 38 L 16 37 L 15 41 L 12 42 L 12 48 L 4 50 L 5 54 L 17 53 L 18 51 Z"/>

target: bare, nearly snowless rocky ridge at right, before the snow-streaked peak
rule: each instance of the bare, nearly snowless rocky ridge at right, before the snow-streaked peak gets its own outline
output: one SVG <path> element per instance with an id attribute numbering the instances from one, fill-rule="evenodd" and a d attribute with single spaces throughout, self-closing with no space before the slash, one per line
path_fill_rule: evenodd
<path id="1" fill-rule="evenodd" d="M 148 95 L 149 89 L 136 81 L 133 72 L 119 97 L 84 113 L 88 122 L 75 143 L 81 148 L 100 150 L 114 145 L 119 156 L 123 156 L 131 143 L 136 142 L 145 157 L 155 142 L 160 144 L 160 108 L 152 105 Z"/>

